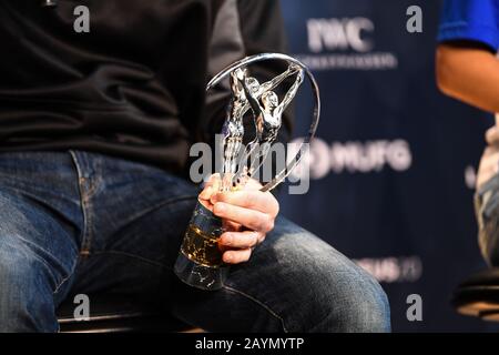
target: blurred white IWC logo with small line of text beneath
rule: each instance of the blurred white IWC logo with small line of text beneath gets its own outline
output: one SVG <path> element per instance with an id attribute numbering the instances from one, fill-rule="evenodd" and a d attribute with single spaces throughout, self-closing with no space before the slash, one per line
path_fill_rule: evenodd
<path id="1" fill-rule="evenodd" d="M 312 70 L 391 70 L 394 52 L 376 51 L 376 26 L 365 17 L 308 19 L 309 53 L 296 53 Z"/>

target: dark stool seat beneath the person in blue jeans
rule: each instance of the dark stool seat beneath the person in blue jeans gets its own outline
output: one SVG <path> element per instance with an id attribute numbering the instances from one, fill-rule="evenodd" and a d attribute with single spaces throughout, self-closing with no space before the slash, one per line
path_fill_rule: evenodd
<path id="1" fill-rule="evenodd" d="M 72 297 L 58 308 L 61 333 L 193 332 L 193 327 L 151 305 L 116 297 L 90 295 L 90 320 L 77 321 Z"/>

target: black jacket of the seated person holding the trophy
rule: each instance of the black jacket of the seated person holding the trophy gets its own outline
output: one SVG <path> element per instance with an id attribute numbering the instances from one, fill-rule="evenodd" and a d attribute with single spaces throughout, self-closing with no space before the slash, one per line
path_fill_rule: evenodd
<path id="1" fill-rule="evenodd" d="M 89 33 L 73 29 L 81 4 Z M 283 32 L 277 0 L 2 0 L 0 152 L 80 149 L 180 172 L 225 118 L 228 91 L 205 105 L 207 80 L 284 52 Z"/>

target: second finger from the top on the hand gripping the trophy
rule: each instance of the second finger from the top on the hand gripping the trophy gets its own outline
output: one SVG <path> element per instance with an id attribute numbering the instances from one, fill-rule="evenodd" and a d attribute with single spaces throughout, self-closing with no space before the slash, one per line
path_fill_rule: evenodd
<path id="1" fill-rule="evenodd" d="M 274 229 L 274 217 L 259 211 L 217 202 L 213 207 L 213 213 L 222 219 L 240 223 L 253 231 L 267 233 Z"/>

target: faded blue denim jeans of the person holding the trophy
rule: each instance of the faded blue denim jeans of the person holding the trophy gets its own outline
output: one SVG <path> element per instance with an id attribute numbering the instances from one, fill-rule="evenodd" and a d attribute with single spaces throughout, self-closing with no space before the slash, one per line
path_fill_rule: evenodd
<path id="1" fill-rule="evenodd" d="M 379 284 L 283 217 L 224 288 L 184 285 L 172 267 L 197 193 L 95 153 L 0 154 L 0 331 L 57 332 L 54 310 L 79 293 L 151 302 L 212 332 L 390 329 Z"/>

